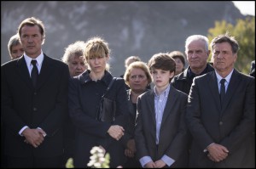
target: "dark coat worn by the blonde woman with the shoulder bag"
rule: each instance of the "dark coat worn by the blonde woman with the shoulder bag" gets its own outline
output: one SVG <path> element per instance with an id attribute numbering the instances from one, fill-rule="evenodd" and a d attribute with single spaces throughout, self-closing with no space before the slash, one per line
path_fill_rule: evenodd
<path id="1" fill-rule="evenodd" d="M 95 82 L 90 79 L 90 70 L 73 77 L 69 82 L 69 114 L 76 126 L 74 166 L 86 167 L 90 161 L 90 149 L 102 145 L 110 154 L 110 166 L 123 165 L 125 161 L 124 149 L 120 140 L 116 141 L 108 135 L 111 125 L 126 127 L 129 114 L 125 81 L 117 78 L 106 94 L 106 98 L 115 100 L 117 105 L 115 121 L 101 122 L 96 120 L 96 112 L 100 99 L 106 92 L 113 76 L 105 71 L 101 80 Z"/>

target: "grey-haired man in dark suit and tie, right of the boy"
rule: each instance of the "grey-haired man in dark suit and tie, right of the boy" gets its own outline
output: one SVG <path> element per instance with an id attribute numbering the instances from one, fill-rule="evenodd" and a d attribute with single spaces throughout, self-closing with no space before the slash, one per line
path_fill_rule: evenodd
<path id="1" fill-rule="evenodd" d="M 219 35 L 211 48 L 215 71 L 195 77 L 189 93 L 189 167 L 255 167 L 255 80 L 234 68 L 235 37 Z"/>

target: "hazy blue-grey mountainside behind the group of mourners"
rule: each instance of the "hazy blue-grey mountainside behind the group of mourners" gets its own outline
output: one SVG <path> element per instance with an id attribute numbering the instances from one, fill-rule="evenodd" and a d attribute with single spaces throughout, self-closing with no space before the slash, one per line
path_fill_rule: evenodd
<path id="1" fill-rule="evenodd" d="M 157 53 L 183 52 L 186 37 L 207 36 L 215 21 L 245 19 L 231 1 L 1 1 L 1 64 L 9 61 L 9 37 L 32 16 L 44 22 L 43 50 L 55 59 L 70 43 L 103 37 L 112 49 L 113 76 L 124 73 L 128 56 L 148 62 Z"/>

